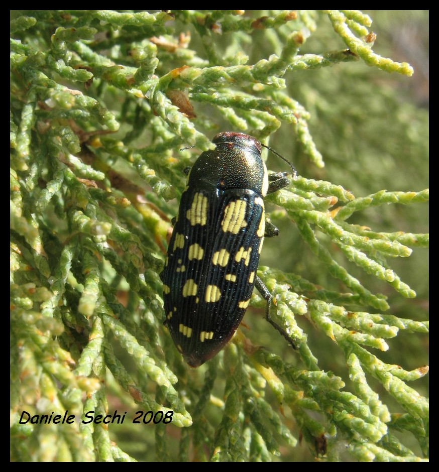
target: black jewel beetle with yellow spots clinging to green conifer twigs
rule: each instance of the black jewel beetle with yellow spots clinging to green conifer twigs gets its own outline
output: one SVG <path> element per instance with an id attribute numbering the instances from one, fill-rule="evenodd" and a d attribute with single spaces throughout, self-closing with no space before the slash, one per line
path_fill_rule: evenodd
<path id="1" fill-rule="evenodd" d="M 191 367 L 229 342 L 255 286 L 267 320 L 289 340 L 271 320 L 271 294 L 256 275 L 264 237 L 279 232 L 265 221 L 263 198 L 288 185 L 288 174 L 268 174 L 262 145 L 249 135 L 224 132 L 212 142 L 188 171 L 160 274 L 165 324 Z"/>

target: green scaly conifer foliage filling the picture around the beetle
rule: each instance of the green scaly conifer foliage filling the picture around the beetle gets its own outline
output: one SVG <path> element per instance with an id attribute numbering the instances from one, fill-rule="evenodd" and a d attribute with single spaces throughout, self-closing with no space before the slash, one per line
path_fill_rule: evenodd
<path id="1" fill-rule="evenodd" d="M 11 460 L 427 460 L 428 21 L 11 11 Z M 183 169 L 226 130 L 298 172 L 258 273 L 296 349 L 254 293 L 193 370 L 158 274 Z"/>

